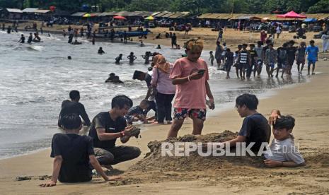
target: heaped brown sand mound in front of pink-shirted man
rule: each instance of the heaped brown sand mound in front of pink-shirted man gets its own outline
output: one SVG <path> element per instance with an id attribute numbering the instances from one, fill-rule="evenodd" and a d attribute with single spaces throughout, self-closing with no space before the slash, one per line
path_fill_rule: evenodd
<path id="1" fill-rule="evenodd" d="M 148 144 L 150 152 L 146 154 L 143 160 L 129 168 L 130 171 L 152 171 L 152 170 L 218 170 L 231 168 L 236 165 L 246 165 L 252 167 L 262 167 L 262 158 L 255 157 L 227 157 L 227 156 L 207 156 L 202 157 L 197 152 L 190 153 L 188 157 L 162 156 L 161 143 L 163 142 L 223 142 L 235 138 L 238 133 L 224 131 L 222 133 L 207 134 L 202 136 L 186 135 L 179 138 L 171 138 L 166 141 L 151 141 Z M 235 152 L 231 150 L 231 152 Z"/>

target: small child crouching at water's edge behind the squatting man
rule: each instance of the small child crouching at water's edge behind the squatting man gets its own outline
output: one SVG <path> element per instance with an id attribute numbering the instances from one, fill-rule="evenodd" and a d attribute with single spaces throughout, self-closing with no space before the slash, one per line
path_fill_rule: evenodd
<path id="1" fill-rule="evenodd" d="M 132 122 L 138 122 L 139 120 L 143 121 L 144 124 L 148 123 L 144 112 L 144 110 L 147 110 L 148 108 L 149 101 L 147 100 L 142 100 L 139 105 L 130 108 L 128 113 L 125 115 L 127 124 L 132 124 Z"/>

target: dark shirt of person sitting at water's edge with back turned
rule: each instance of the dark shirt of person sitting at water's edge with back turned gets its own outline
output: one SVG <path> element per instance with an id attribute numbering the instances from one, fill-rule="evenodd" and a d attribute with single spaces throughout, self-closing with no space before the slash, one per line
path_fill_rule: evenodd
<path id="1" fill-rule="evenodd" d="M 70 100 L 64 100 L 62 102 L 62 110 L 59 113 L 58 117 L 58 126 L 62 126 L 62 117 L 64 117 L 66 114 L 72 113 L 81 116 L 87 126 L 91 125 L 91 121 L 89 120 L 88 114 L 86 113 L 83 104 L 81 104 L 80 102 L 71 102 Z"/>

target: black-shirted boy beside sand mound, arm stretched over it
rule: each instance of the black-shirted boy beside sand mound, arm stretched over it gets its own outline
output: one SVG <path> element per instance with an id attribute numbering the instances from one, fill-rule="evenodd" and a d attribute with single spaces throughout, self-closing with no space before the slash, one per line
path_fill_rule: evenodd
<path id="1" fill-rule="evenodd" d="M 262 143 L 267 143 L 270 141 L 271 127 L 267 122 L 267 119 L 258 113 L 258 98 L 255 95 L 244 93 L 243 95 L 236 98 L 236 110 L 243 119 L 243 124 L 236 138 L 233 138 L 225 143 L 213 143 L 213 144 L 223 144 L 224 146 L 235 147 L 237 143 L 246 143 L 246 147 L 251 143 L 253 146 L 250 150 L 258 154 L 262 153 L 260 149 Z M 208 147 L 207 143 L 203 147 Z"/>

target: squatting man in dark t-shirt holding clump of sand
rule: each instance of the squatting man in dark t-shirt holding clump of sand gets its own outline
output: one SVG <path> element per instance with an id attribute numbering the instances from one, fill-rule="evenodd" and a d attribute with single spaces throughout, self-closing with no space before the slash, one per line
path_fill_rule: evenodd
<path id="1" fill-rule="evenodd" d="M 109 112 L 100 112 L 93 118 L 89 136 L 93 138 L 96 158 L 100 165 L 112 169 L 110 165 L 137 158 L 141 151 L 134 146 L 115 146 L 115 141 L 120 138 L 122 143 L 129 141 L 133 134 L 134 126 L 127 126 L 124 118 L 132 100 L 125 95 L 117 95 L 112 99 L 112 109 Z"/>

